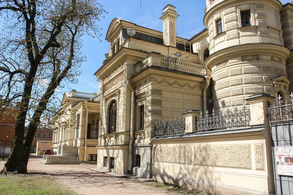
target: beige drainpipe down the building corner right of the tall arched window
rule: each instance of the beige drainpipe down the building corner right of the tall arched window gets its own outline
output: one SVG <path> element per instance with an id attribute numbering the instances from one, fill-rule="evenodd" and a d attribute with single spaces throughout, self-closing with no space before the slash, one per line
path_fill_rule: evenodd
<path id="1" fill-rule="evenodd" d="M 130 141 L 129 141 L 129 155 L 128 155 L 128 172 L 131 173 L 132 170 L 132 143 L 133 143 L 133 137 L 134 137 L 134 104 L 135 104 L 135 100 L 134 100 L 134 96 L 135 96 L 135 92 L 133 90 L 133 88 L 130 85 L 130 79 L 131 78 L 127 78 L 127 87 L 128 89 L 130 89 L 131 91 L 131 119 L 130 119 Z"/>

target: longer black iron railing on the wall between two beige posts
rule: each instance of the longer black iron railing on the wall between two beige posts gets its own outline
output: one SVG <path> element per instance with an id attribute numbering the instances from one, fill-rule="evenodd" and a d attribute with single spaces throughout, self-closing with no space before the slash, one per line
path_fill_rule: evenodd
<path id="1" fill-rule="evenodd" d="M 250 123 L 250 110 L 243 104 L 243 108 L 239 109 L 238 106 L 235 106 L 233 109 L 229 110 L 227 107 L 226 110 L 219 110 L 216 114 L 212 110 L 211 115 L 209 112 L 206 112 L 206 117 L 203 116 L 203 113 L 200 113 L 200 118 L 197 121 L 197 131 L 214 131 L 229 129 L 231 127 L 240 127 L 248 126 Z"/>

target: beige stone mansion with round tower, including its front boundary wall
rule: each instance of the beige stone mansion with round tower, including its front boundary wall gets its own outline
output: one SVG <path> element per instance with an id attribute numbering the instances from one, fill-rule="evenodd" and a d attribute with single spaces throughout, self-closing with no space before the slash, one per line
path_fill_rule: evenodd
<path id="1" fill-rule="evenodd" d="M 71 108 L 63 122 L 74 125 L 54 134 L 53 150 L 75 150 L 79 161 L 97 154 L 100 170 L 213 194 L 273 194 L 266 106 L 279 95 L 287 101 L 293 89 L 293 5 L 207 0 L 205 11 L 207 28 L 189 40 L 176 37 L 179 15 L 169 4 L 160 18 L 163 32 L 114 19 L 109 53 L 95 73 L 99 94 L 63 99 L 63 108 Z M 197 131 L 199 112 L 244 103 L 249 127 Z M 159 120 L 184 116 L 182 135 L 155 135 Z M 85 136 L 91 121 L 94 140 Z"/>

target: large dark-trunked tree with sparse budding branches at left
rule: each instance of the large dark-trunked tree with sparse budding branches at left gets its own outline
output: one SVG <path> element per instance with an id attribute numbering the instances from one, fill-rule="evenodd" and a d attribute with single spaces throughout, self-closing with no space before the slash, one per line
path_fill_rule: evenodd
<path id="1" fill-rule="evenodd" d="M 40 118 L 56 111 L 55 91 L 77 81 L 82 38 L 101 37 L 104 13 L 95 0 L 0 0 L 0 108 L 18 111 L 2 173 L 26 173 Z"/>

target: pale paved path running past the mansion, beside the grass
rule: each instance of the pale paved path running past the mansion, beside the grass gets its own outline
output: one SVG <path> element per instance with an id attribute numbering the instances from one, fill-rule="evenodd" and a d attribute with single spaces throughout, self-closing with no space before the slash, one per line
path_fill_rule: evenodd
<path id="1" fill-rule="evenodd" d="M 30 158 L 28 172 L 46 173 L 82 195 L 176 195 L 167 190 L 131 182 L 90 170 L 96 165 L 44 165 L 40 158 Z M 4 162 L 0 161 L 0 167 Z"/>

